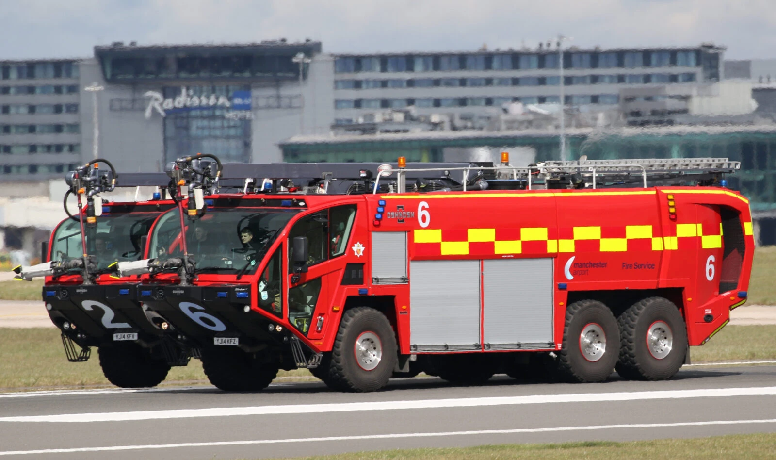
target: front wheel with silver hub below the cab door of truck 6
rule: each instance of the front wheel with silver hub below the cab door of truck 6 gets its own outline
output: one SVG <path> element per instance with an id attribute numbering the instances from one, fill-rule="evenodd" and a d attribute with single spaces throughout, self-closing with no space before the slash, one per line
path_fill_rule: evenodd
<path id="1" fill-rule="evenodd" d="M 373 392 L 388 383 L 396 361 L 396 336 L 388 319 L 374 308 L 356 307 L 342 315 L 319 378 L 331 389 Z"/>

